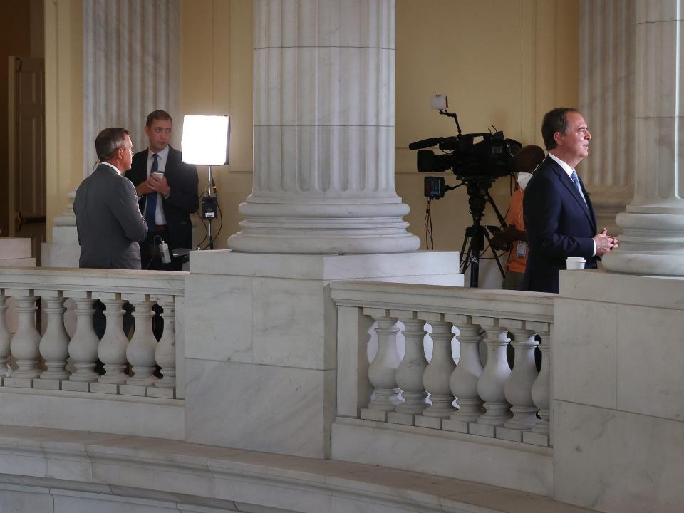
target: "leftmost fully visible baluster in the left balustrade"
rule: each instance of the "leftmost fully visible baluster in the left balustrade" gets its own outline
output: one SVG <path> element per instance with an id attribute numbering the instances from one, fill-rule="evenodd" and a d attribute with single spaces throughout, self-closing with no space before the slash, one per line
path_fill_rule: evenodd
<path id="1" fill-rule="evenodd" d="M 21 294 L 21 295 L 19 295 Z M 16 361 L 17 369 L 12 372 L 12 378 L 5 378 L 5 385 L 31 387 L 31 379 L 41 374 L 38 369 L 38 346 L 41 334 L 36 329 L 36 296 L 33 291 L 12 291 L 16 301 L 17 327 L 10 342 L 10 351 Z"/>

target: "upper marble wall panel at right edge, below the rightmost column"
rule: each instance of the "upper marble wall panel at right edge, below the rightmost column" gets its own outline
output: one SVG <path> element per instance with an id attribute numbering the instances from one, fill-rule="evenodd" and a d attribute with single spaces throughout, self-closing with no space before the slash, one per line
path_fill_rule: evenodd
<path id="1" fill-rule="evenodd" d="M 684 420 L 684 311 L 618 306 L 618 410 Z"/>

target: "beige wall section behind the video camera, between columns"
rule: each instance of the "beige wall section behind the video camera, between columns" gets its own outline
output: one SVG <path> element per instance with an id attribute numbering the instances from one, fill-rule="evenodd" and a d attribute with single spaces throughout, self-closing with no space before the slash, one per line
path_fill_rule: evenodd
<path id="1" fill-rule="evenodd" d="M 578 21 L 576 1 L 397 1 L 396 185 L 423 249 L 427 202 L 408 143 L 457 133 L 453 120 L 430 109 L 430 96 L 449 95 L 464 133 L 491 123 L 543 147 L 544 113 L 577 103 Z M 499 179 L 492 196 L 505 214 L 509 180 Z M 460 250 L 472 222 L 465 190 L 433 202 L 432 219 L 436 249 Z M 489 207 L 485 219 L 495 222 Z"/>

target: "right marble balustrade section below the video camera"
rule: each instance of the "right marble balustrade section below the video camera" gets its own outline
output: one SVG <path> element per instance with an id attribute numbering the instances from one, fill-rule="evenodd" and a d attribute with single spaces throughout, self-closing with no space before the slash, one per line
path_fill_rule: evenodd
<path id="1" fill-rule="evenodd" d="M 555 294 L 361 281 L 331 294 L 338 418 L 552 445 Z"/>

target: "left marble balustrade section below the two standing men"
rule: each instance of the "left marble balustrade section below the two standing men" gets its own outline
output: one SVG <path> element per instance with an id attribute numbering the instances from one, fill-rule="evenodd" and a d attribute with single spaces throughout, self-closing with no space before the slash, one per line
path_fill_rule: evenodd
<path id="1" fill-rule="evenodd" d="M 0 271 L 0 385 L 113 395 L 176 398 L 176 325 L 185 275 L 170 271 L 4 268 Z M 16 330 L 6 325 L 16 304 Z M 102 338 L 95 301 L 105 309 Z M 133 321 L 124 305 L 133 306 Z M 152 311 L 162 308 L 161 338 Z M 159 322 L 158 320 L 156 321 Z M 125 333 L 124 330 L 128 330 Z M 103 371 L 96 368 L 98 360 Z M 161 378 L 155 377 L 160 366 Z M 102 373 L 104 372 L 104 373 Z"/>

